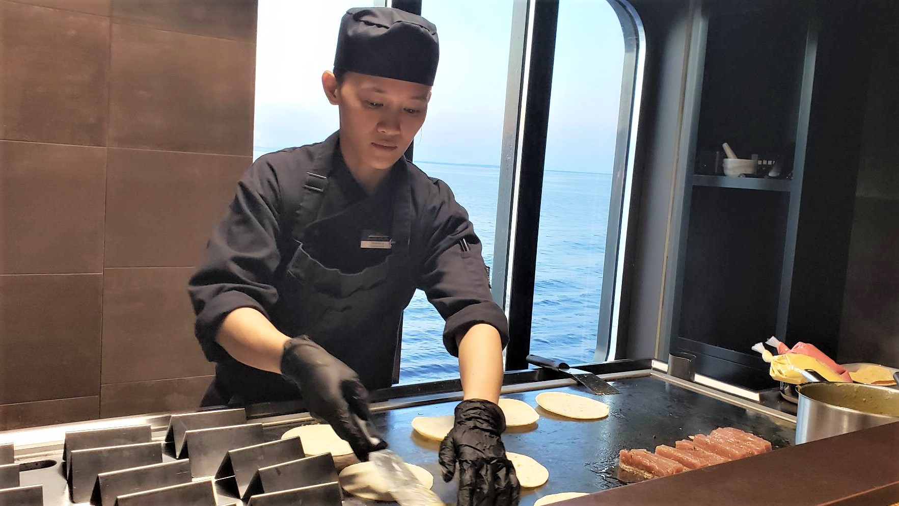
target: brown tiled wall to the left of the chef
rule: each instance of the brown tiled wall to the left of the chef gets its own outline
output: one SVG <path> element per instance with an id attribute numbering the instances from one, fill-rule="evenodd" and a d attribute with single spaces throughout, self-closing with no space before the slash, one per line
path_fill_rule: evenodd
<path id="1" fill-rule="evenodd" d="M 0 431 L 195 407 L 186 292 L 252 158 L 256 0 L 0 0 Z"/>

